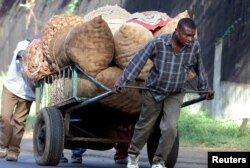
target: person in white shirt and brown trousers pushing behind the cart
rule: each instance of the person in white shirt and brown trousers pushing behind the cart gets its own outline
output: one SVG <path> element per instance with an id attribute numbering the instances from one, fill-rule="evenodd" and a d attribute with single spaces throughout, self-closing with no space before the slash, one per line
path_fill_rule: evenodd
<path id="1" fill-rule="evenodd" d="M 0 115 L 0 158 L 17 161 L 20 143 L 32 102 L 34 85 L 22 70 L 22 57 L 28 40 L 18 43 L 3 84 Z"/>

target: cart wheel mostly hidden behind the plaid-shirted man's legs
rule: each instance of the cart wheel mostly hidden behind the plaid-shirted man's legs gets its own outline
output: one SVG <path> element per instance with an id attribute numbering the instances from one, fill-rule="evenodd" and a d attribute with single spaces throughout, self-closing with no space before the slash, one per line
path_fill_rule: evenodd
<path id="1" fill-rule="evenodd" d="M 150 135 L 148 142 L 147 142 L 148 160 L 150 164 L 152 164 L 154 153 L 158 146 L 159 138 L 160 138 L 160 129 L 156 128 L 153 134 Z M 172 150 L 167 157 L 167 161 L 165 162 L 165 166 L 167 168 L 173 168 L 175 166 L 178 153 L 179 153 L 179 132 L 177 130 L 177 136 L 175 138 Z"/>

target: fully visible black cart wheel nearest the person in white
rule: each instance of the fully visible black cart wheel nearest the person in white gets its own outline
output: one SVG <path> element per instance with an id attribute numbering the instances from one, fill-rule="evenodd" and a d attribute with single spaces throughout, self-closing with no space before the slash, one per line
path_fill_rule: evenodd
<path id="1" fill-rule="evenodd" d="M 46 107 L 40 110 L 34 125 L 33 150 L 36 163 L 56 166 L 64 148 L 64 125 L 60 110 Z"/>

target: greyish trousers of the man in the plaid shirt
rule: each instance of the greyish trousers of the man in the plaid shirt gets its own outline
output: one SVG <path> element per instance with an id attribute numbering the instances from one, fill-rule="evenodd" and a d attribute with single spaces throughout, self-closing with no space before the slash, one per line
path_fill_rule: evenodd
<path id="1" fill-rule="evenodd" d="M 157 103 L 149 91 L 142 92 L 142 109 L 139 121 L 134 128 L 129 153 L 140 153 L 154 128 L 158 116 L 163 111 L 160 121 L 161 137 L 153 162 L 166 161 L 177 136 L 177 122 L 183 97 L 184 93 L 170 94 L 164 101 Z"/>

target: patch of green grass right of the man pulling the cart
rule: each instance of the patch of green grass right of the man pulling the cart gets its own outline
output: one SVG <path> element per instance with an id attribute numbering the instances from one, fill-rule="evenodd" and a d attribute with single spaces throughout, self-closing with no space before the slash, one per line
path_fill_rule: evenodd
<path id="1" fill-rule="evenodd" d="M 179 121 L 180 144 L 249 150 L 250 125 L 248 124 L 245 134 L 241 136 L 239 128 L 240 123 L 217 121 L 204 111 L 192 114 L 188 108 L 184 108 Z"/>

